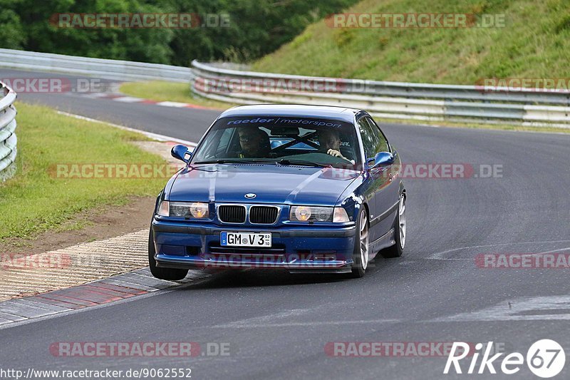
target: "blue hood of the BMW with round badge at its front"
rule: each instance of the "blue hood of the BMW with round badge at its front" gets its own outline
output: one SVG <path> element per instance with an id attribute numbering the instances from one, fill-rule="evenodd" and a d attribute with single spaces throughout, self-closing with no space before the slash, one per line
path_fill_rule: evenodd
<path id="1" fill-rule="evenodd" d="M 186 202 L 249 202 L 335 205 L 358 171 L 292 165 L 197 165 L 178 173 L 168 199 Z M 253 199 L 245 197 L 254 193 Z"/>

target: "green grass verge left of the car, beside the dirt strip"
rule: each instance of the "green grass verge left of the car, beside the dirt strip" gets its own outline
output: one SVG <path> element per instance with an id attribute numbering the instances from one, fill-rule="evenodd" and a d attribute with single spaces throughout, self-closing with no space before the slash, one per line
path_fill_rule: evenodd
<path id="1" fill-rule="evenodd" d="M 53 165 L 58 163 L 165 161 L 129 143 L 145 140 L 138 133 L 69 118 L 43 106 L 16 107 L 17 172 L 0 184 L 0 242 L 58 230 L 79 212 L 124 205 L 133 195 L 157 195 L 165 184 L 163 178 L 54 178 Z"/>

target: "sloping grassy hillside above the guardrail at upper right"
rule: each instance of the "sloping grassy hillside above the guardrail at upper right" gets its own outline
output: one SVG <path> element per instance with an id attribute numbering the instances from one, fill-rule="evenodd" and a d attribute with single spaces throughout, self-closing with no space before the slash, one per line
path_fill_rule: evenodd
<path id="1" fill-rule="evenodd" d="M 480 78 L 567 78 L 567 0 L 364 0 L 354 13 L 504 14 L 501 28 L 361 29 L 309 26 L 257 71 L 382 81 L 475 84 Z"/>

